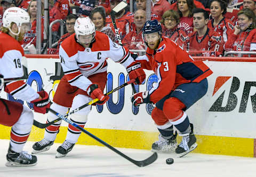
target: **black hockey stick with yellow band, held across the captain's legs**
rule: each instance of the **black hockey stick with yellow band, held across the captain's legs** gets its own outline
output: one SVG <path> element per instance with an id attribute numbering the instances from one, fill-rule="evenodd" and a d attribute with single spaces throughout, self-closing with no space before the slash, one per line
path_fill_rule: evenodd
<path id="1" fill-rule="evenodd" d="M 111 93 L 113 93 L 113 92 L 115 92 L 115 91 L 118 91 L 118 90 L 122 89 L 123 87 L 125 87 L 126 85 L 129 85 L 129 84 L 131 84 L 131 83 L 133 83 L 133 82 L 135 82 L 135 79 L 132 79 L 131 81 L 126 82 L 126 83 L 124 83 L 124 84 L 122 84 L 122 85 L 116 87 L 115 89 L 111 90 L 110 92 L 106 93 L 105 95 L 109 95 L 109 94 L 111 94 Z M 74 114 L 75 112 L 77 112 L 77 111 L 79 111 L 79 110 L 81 110 L 81 109 L 83 109 L 83 108 L 85 108 L 85 107 L 87 107 L 87 106 L 89 106 L 89 105 L 91 105 L 91 104 L 97 102 L 97 101 L 99 101 L 98 98 L 96 98 L 96 99 L 90 101 L 89 103 L 84 104 L 83 106 L 81 106 L 81 107 L 79 107 L 79 108 L 74 109 L 73 111 L 68 112 L 68 114 L 66 114 L 65 116 L 62 115 L 61 117 L 63 117 L 63 118 L 68 117 L 69 115 Z M 58 116 L 58 115 L 57 115 L 57 116 Z M 40 123 L 40 122 L 38 122 L 38 121 L 36 121 L 36 120 L 34 119 L 33 125 L 35 125 L 35 126 L 38 127 L 38 128 L 46 128 L 47 126 L 50 126 L 50 125 L 52 125 L 52 124 L 54 124 L 54 123 L 57 123 L 59 120 L 61 120 L 61 119 L 63 119 L 63 118 L 55 119 L 55 120 L 53 120 L 52 122 L 49 122 L 49 123 L 46 123 L 46 124 Z"/>

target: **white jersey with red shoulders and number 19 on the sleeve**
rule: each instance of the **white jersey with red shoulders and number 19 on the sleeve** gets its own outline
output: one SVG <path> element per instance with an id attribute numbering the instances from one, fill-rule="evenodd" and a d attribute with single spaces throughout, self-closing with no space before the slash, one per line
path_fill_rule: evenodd
<path id="1" fill-rule="evenodd" d="M 24 51 L 20 43 L 10 35 L 0 32 L 0 74 L 4 79 L 23 76 L 21 64 L 23 55 Z M 29 102 L 39 97 L 39 94 L 23 81 L 7 83 L 5 91 L 17 99 Z"/>

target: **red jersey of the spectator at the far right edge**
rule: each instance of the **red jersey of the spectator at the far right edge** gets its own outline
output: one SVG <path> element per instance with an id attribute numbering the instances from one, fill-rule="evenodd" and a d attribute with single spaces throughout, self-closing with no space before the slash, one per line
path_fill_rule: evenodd
<path id="1" fill-rule="evenodd" d="M 224 47 L 225 51 L 256 51 L 256 29 L 231 35 Z"/>

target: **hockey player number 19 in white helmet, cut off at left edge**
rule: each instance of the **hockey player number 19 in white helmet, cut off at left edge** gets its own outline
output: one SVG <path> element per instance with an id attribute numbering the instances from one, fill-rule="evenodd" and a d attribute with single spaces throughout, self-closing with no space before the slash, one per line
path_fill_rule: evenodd
<path id="1" fill-rule="evenodd" d="M 24 60 L 22 59 L 24 51 L 19 42 L 29 26 L 29 15 L 25 10 L 11 7 L 4 12 L 3 27 L 0 32 L 0 91 L 4 89 L 17 99 L 34 103 L 34 111 L 45 114 L 50 107 L 48 94 L 45 91 L 36 92 L 23 81 L 4 83 L 4 79 L 23 76 L 21 60 Z M 22 151 L 33 125 L 33 112 L 21 103 L 5 99 L 0 99 L 0 112 L 0 124 L 12 127 L 5 165 L 36 165 L 36 156 Z"/>

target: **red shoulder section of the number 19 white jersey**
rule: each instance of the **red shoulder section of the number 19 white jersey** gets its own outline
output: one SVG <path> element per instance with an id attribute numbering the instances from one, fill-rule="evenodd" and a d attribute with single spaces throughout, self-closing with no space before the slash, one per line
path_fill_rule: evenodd
<path id="1" fill-rule="evenodd" d="M 20 43 L 10 35 L 0 32 L 0 58 L 3 57 L 5 52 L 10 50 L 17 50 L 24 56 L 24 51 Z"/>

